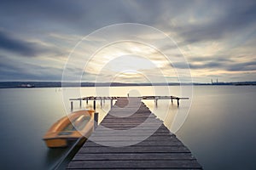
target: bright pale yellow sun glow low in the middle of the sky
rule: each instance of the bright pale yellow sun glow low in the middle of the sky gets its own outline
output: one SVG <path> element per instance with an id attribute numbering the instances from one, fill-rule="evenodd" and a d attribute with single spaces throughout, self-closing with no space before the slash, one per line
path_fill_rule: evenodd
<path id="1" fill-rule="evenodd" d="M 175 71 L 168 63 L 163 54 L 146 44 L 117 42 L 94 54 L 84 66 L 84 72 L 106 77 L 107 82 L 113 75 L 123 78 L 123 80 L 119 79 L 119 82 L 127 82 L 127 79 L 131 82 L 145 82 L 147 78 L 143 78 L 142 75 L 154 79 L 165 75 L 175 77 Z M 170 72 L 174 75 L 170 75 Z"/>

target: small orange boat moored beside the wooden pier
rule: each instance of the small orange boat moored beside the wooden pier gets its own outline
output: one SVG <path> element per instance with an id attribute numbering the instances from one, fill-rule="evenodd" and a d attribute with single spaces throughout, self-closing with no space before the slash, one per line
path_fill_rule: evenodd
<path id="1" fill-rule="evenodd" d="M 55 122 L 44 134 L 49 148 L 66 147 L 69 142 L 86 139 L 94 127 L 94 111 L 74 111 Z"/>

